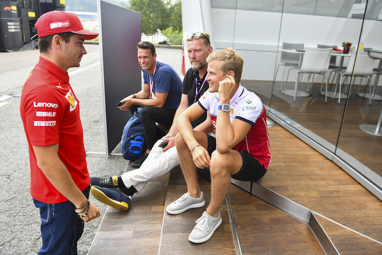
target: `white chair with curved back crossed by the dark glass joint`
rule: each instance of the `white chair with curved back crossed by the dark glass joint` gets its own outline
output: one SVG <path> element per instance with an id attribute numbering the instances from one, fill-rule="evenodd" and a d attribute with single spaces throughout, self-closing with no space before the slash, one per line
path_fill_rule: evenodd
<path id="1" fill-rule="evenodd" d="M 338 73 L 340 75 L 338 104 L 340 104 L 341 102 L 342 78 L 351 77 L 351 75 L 353 75 L 353 78 L 363 77 L 368 80 L 366 84 L 367 86 L 370 83 L 369 75 L 372 74 L 373 72 L 374 63 L 375 63 L 375 59 L 370 58 L 367 55 L 367 52 L 358 52 L 357 54 L 357 52 L 354 50 L 354 52 L 350 56 L 349 64 L 347 65 L 346 69 L 343 69 L 343 70 L 331 69 L 332 71 L 330 75 L 332 75 L 333 72 Z M 370 101 L 370 104 L 371 104 L 371 101 Z"/>

